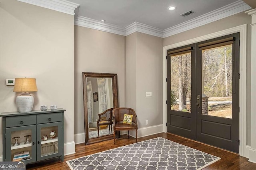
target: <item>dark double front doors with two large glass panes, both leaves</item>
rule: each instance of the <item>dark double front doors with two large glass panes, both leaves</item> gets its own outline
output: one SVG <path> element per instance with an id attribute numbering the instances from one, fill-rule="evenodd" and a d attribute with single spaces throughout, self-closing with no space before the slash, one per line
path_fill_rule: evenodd
<path id="1" fill-rule="evenodd" d="M 239 33 L 167 51 L 167 131 L 239 152 Z"/>

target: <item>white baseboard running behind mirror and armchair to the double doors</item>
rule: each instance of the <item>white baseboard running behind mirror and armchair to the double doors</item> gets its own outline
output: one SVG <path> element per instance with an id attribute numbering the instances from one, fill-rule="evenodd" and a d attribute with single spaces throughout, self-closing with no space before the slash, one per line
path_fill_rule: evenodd
<path id="1" fill-rule="evenodd" d="M 139 138 L 139 137 L 154 135 L 156 133 L 162 133 L 162 132 L 163 132 L 163 124 L 149 126 L 149 127 L 142 127 L 140 129 L 138 129 L 137 133 L 138 133 L 138 138 Z M 128 131 L 121 131 L 121 135 L 123 135 L 123 134 L 128 134 Z M 130 131 L 130 135 L 132 137 L 136 137 L 135 131 Z M 75 134 L 74 141 L 76 144 L 85 143 L 84 133 Z"/>

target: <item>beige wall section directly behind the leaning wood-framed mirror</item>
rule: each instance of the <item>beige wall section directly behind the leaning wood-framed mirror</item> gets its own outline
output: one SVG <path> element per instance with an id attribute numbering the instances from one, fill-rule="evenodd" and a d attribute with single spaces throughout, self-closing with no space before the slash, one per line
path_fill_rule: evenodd
<path id="1" fill-rule="evenodd" d="M 82 72 L 116 73 L 119 106 L 125 106 L 125 37 L 75 25 L 74 43 L 74 134 L 78 134 L 84 133 Z"/>

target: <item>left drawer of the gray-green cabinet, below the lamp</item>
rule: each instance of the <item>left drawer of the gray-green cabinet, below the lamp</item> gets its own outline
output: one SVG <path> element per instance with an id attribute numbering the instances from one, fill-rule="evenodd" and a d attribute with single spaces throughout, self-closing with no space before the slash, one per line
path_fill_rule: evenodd
<path id="1" fill-rule="evenodd" d="M 6 127 L 17 127 L 36 124 L 36 115 L 6 117 Z"/>

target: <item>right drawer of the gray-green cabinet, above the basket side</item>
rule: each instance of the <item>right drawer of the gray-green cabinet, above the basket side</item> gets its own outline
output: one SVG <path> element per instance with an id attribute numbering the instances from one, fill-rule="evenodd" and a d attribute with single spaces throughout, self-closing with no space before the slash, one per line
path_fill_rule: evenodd
<path id="1" fill-rule="evenodd" d="M 36 123 L 51 123 L 56 121 L 62 121 L 62 113 L 47 113 L 36 115 Z"/>

